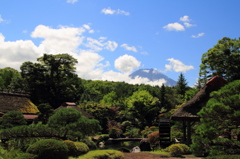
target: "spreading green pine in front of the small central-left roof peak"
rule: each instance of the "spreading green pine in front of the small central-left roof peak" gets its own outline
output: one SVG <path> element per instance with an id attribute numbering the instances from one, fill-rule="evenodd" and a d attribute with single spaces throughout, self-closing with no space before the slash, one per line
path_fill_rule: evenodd
<path id="1" fill-rule="evenodd" d="M 72 140 L 95 135 L 100 130 L 97 120 L 86 118 L 72 108 L 57 110 L 47 124 L 57 130 L 62 138 Z"/>

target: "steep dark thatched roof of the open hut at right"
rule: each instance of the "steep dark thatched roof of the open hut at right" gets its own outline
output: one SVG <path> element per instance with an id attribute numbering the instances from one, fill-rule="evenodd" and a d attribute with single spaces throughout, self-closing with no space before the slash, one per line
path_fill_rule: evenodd
<path id="1" fill-rule="evenodd" d="M 220 76 L 213 77 L 200 89 L 200 91 L 190 101 L 188 101 L 176 112 L 174 112 L 174 114 L 171 116 L 171 119 L 191 121 L 199 120 L 200 117 L 197 115 L 197 113 L 202 109 L 202 107 L 206 105 L 207 101 L 210 98 L 210 93 L 212 91 L 217 91 L 226 83 L 227 82 Z"/>

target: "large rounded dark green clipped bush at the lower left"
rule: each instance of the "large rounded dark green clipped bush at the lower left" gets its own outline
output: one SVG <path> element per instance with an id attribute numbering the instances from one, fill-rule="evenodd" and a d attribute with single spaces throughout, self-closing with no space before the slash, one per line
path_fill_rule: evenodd
<path id="1" fill-rule="evenodd" d="M 36 159 L 67 159 L 68 147 L 62 141 L 45 139 L 29 146 L 27 153 L 36 155 Z"/>

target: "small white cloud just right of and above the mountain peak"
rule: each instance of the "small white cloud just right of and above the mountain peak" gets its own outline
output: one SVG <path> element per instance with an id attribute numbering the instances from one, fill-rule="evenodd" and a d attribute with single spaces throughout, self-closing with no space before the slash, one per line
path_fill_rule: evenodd
<path id="1" fill-rule="evenodd" d="M 181 61 L 176 60 L 174 58 L 167 59 L 169 61 L 169 64 L 165 65 L 166 70 L 165 71 L 175 71 L 175 72 L 186 72 L 188 70 L 194 69 L 193 66 L 187 66 L 183 64 Z"/>

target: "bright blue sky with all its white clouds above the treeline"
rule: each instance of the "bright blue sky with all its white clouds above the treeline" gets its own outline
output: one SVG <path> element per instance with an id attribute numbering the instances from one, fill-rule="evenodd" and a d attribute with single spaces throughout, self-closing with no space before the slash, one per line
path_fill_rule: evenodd
<path id="1" fill-rule="evenodd" d="M 223 37 L 238 38 L 239 0 L 0 1 L 0 68 L 19 70 L 43 53 L 69 53 L 84 79 L 161 85 L 130 79 L 154 68 L 192 86 L 202 54 Z"/>

